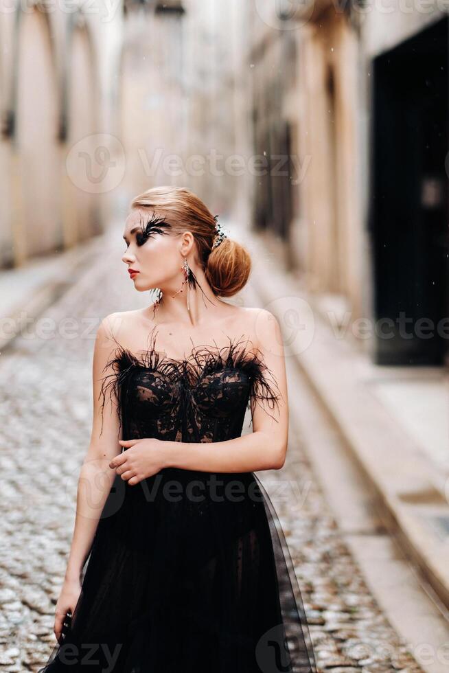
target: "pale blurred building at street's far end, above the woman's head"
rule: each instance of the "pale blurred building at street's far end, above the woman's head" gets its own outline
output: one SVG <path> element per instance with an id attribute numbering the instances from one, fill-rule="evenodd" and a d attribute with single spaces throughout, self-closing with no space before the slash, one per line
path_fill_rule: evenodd
<path id="1" fill-rule="evenodd" d="M 227 170 L 235 129 L 242 129 L 235 122 L 238 3 L 125 6 L 119 107 L 128 161 L 122 194 L 128 199 L 151 184 L 183 185 L 214 212 L 227 212 L 242 187 Z"/>

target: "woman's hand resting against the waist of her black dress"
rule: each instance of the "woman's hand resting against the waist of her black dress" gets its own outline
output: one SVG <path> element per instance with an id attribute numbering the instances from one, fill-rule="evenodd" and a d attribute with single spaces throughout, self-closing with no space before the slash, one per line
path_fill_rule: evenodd
<path id="1" fill-rule="evenodd" d="M 144 437 L 139 440 L 119 440 L 126 451 L 115 456 L 109 467 L 117 472 L 130 486 L 157 474 L 165 467 L 164 442 Z"/>

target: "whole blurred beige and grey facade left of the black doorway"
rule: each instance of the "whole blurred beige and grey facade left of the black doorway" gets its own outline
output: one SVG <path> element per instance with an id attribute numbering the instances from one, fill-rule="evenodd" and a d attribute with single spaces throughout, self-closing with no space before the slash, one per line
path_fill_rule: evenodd
<path id="1" fill-rule="evenodd" d="M 285 207 L 288 190 L 285 182 L 279 188 L 279 178 L 254 179 L 253 224 L 266 220 L 280 262 L 300 275 L 312 295 L 337 297 L 358 317 L 363 276 L 358 36 L 333 3 L 311 4 L 302 14 L 284 4 L 292 20 L 283 23 L 282 3 L 277 11 L 274 3 L 253 3 L 249 58 L 256 148 L 277 151 L 279 127 L 290 128 L 291 202 Z M 279 246 L 279 220 L 289 214 L 288 234 Z"/>

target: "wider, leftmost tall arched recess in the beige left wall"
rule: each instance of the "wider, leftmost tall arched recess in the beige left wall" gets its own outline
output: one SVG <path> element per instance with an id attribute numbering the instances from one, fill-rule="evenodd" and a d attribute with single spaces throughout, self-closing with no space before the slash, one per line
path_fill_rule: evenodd
<path id="1" fill-rule="evenodd" d="M 25 257 L 62 244 L 58 95 L 51 35 L 42 10 L 21 14 L 16 72 L 16 144 Z"/>

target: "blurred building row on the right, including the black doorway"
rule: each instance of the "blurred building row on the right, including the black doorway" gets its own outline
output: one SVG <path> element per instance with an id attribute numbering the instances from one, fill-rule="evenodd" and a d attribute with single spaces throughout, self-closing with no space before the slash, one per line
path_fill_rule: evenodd
<path id="1" fill-rule="evenodd" d="M 448 20 L 419 4 L 247 5 L 253 226 L 382 364 L 448 353 Z"/>

